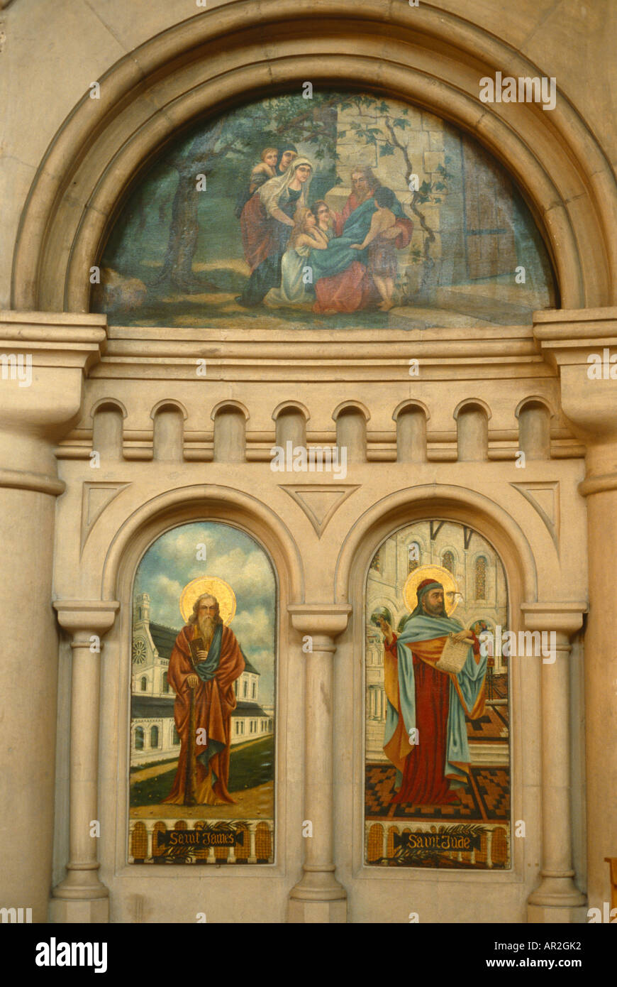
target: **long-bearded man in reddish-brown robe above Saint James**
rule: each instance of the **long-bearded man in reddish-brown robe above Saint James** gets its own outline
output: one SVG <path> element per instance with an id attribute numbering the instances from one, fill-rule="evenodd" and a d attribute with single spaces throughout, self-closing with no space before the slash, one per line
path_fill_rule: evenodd
<path id="1" fill-rule="evenodd" d="M 193 664 L 190 642 L 201 639 Z M 231 718 L 236 709 L 234 682 L 244 670 L 244 655 L 229 627 L 219 614 L 215 596 L 206 593 L 195 600 L 188 624 L 183 627 L 171 651 L 168 682 L 175 692 L 173 717 L 180 738 L 180 754 L 171 794 L 165 799 L 186 805 L 187 756 L 193 744 L 195 766 L 192 796 L 198 805 L 235 804 L 227 790 L 230 778 Z M 193 693 L 194 733 L 189 736 L 190 694 Z"/>

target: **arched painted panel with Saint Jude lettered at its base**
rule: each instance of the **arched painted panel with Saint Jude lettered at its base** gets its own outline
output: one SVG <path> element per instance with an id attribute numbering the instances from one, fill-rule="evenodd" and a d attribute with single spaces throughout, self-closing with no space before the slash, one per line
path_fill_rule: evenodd
<path id="1" fill-rule="evenodd" d="M 451 521 L 402 528 L 373 559 L 366 620 L 366 864 L 509 869 L 509 659 L 496 647 L 508 596 L 497 553 Z"/>

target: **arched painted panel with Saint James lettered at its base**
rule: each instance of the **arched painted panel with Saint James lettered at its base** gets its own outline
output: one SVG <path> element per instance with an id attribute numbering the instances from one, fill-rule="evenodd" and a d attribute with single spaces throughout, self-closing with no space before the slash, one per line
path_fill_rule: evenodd
<path id="1" fill-rule="evenodd" d="M 133 591 L 129 860 L 274 860 L 276 583 L 257 543 L 162 535 Z"/>

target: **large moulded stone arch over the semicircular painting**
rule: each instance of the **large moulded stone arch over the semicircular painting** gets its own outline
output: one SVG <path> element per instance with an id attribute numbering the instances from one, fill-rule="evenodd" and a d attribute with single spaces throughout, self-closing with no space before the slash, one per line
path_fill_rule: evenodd
<path id="1" fill-rule="evenodd" d="M 353 53 L 341 53 L 342 37 Z M 12 308 L 88 311 L 84 271 L 99 257 L 126 190 L 171 137 L 201 115 L 306 78 L 404 99 L 473 131 L 528 199 L 563 307 L 615 304 L 617 244 L 609 230 L 617 183 L 606 156 L 561 93 L 550 114 L 481 103 L 479 79 L 504 65 L 513 75 L 543 74 L 506 42 L 428 5 L 410 11 L 360 0 L 353 23 L 343 0 L 318 19 L 295 0 L 198 13 L 110 66 L 101 100 L 93 105 L 86 92 L 57 131 L 23 210 Z"/>

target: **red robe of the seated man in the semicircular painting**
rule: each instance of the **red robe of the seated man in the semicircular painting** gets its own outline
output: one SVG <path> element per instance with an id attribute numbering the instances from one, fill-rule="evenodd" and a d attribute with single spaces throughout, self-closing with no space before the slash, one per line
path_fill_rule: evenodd
<path id="1" fill-rule="evenodd" d="M 334 213 L 334 234 L 343 235 L 343 227 L 350 215 L 362 203 L 353 191 L 347 199 L 342 212 Z M 396 250 L 403 250 L 411 240 L 413 223 L 405 216 L 394 224 L 400 231 L 392 241 Z M 357 312 L 373 303 L 381 301 L 377 286 L 373 280 L 370 268 L 354 261 L 346 270 L 332 277 L 320 277 L 315 282 L 316 301 L 312 306 L 313 312 Z"/>

